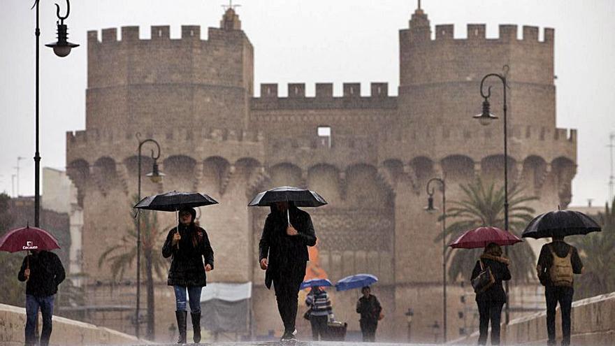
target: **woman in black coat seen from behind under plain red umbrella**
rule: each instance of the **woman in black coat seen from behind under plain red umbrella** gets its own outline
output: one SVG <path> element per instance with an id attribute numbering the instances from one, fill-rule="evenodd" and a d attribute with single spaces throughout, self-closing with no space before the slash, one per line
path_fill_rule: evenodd
<path id="1" fill-rule="evenodd" d="M 485 291 L 476 294 L 476 303 L 480 316 L 478 345 L 486 345 L 487 330 L 491 320 L 491 345 L 500 345 L 500 319 L 502 306 L 506 302 L 506 293 L 502 287 L 502 281 L 510 280 L 508 265 L 510 261 L 502 257 L 502 248 L 495 243 L 489 243 L 485 247 L 480 259 L 476 262 L 472 271 L 472 280 L 475 279 L 483 268 L 490 268 L 495 282 Z"/>

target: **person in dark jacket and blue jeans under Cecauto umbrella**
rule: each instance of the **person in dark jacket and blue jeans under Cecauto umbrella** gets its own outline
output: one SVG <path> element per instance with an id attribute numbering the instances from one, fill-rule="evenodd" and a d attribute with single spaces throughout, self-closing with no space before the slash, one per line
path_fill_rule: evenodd
<path id="1" fill-rule="evenodd" d="M 36 317 L 38 309 L 43 314 L 41 346 L 49 345 L 52 330 L 53 301 L 57 287 L 64 281 L 66 273 L 57 254 L 44 250 L 31 250 L 20 269 L 17 278 L 26 282 L 26 329 L 25 344 L 35 345 Z"/>

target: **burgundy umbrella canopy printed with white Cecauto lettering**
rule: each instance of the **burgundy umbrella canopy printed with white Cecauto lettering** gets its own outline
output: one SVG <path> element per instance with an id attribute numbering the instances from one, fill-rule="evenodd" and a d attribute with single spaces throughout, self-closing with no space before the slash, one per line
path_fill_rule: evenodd
<path id="1" fill-rule="evenodd" d="M 26 250 L 59 249 L 56 238 L 48 231 L 36 227 L 25 226 L 8 231 L 0 239 L 0 251 L 17 252 Z"/>

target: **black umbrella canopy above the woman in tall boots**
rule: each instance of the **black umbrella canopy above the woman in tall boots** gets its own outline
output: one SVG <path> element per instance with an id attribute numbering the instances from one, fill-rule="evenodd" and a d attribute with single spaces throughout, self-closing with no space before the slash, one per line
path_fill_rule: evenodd
<path id="1" fill-rule="evenodd" d="M 133 208 L 159 210 L 159 211 L 177 211 L 181 208 L 196 208 L 201 206 L 210 206 L 217 204 L 215 199 L 212 199 L 206 194 L 198 192 L 166 192 L 154 196 L 147 196 L 140 200 Z"/>

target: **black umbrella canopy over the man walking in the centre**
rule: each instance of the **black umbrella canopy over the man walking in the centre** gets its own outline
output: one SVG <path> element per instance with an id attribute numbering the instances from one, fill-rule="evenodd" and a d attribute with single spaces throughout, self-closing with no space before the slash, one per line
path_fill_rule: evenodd
<path id="1" fill-rule="evenodd" d="M 275 189 L 263 191 L 254 197 L 248 204 L 254 206 L 272 206 L 276 202 L 294 202 L 298 207 L 324 206 L 326 201 L 314 191 L 299 189 L 298 187 L 280 186 Z"/>

